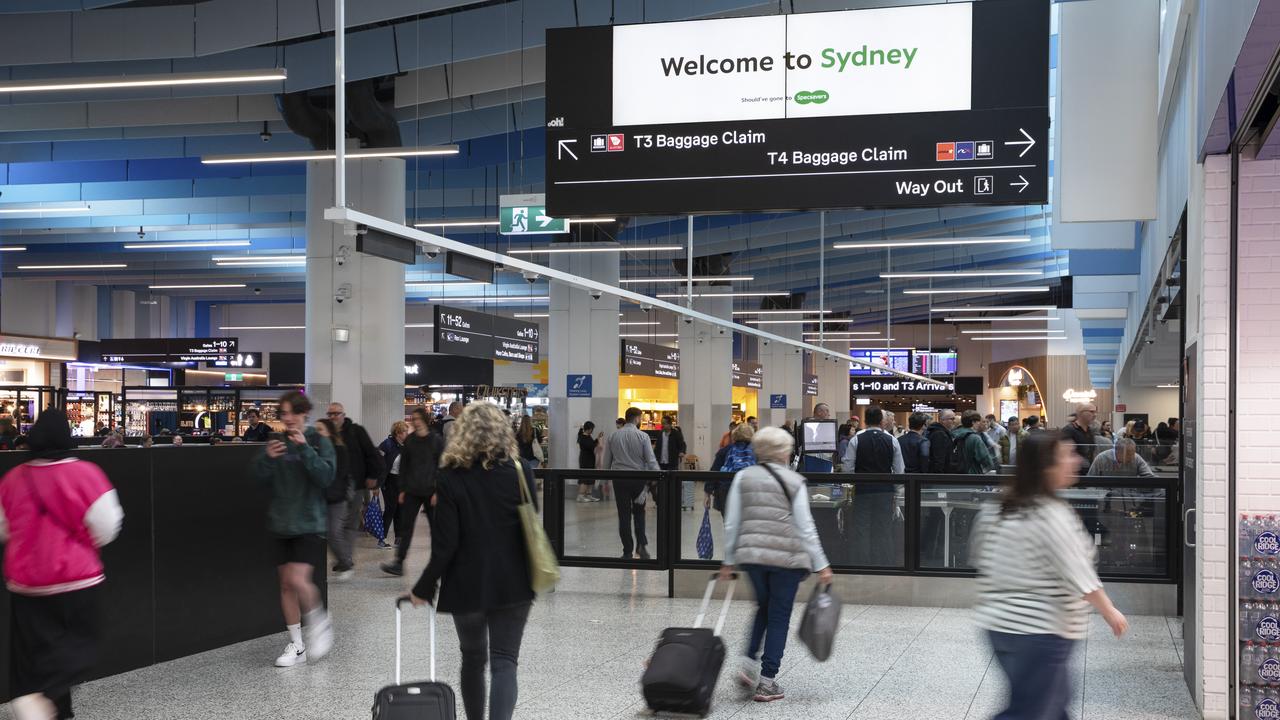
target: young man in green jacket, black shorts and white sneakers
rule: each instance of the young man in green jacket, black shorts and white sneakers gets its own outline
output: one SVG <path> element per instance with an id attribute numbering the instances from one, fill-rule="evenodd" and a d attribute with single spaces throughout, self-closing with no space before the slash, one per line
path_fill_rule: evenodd
<path id="1" fill-rule="evenodd" d="M 275 660 L 292 667 L 320 660 L 333 648 L 333 623 L 320 600 L 312 575 L 325 560 L 328 512 L 324 491 L 333 483 L 333 445 L 307 425 L 311 400 L 293 389 L 280 396 L 284 433 L 271 433 L 253 460 L 253 477 L 270 493 L 268 528 L 275 536 L 280 607 L 289 644 Z M 306 639 L 303 641 L 303 625 Z"/>

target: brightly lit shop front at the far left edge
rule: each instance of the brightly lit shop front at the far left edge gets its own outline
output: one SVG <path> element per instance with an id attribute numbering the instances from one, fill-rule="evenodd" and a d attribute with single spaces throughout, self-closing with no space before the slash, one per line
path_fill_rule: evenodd
<path id="1" fill-rule="evenodd" d="M 27 432 L 40 411 L 58 404 L 61 365 L 76 360 L 76 341 L 0 334 L 0 416 Z"/>

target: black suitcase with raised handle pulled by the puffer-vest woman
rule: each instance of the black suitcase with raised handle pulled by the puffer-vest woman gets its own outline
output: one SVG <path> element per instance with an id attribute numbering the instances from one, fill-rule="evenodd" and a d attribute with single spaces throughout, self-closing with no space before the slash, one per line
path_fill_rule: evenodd
<path id="1" fill-rule="evenodd" d="M 701 626 L 716 592 L 716 575 L 707 583 L 703 606 L 692 628 L 667 628 L 658 638 L 658 647 L 649 659 L 649 666 L 640 679 L 644 701 L 654 712 L 681 712 L 707 716 L 712 710 L 712 694 L 724 666 L 724 642 L 719 633 L 724 628 L 737 575 L 730 580 L 721 605 L 716 629 Z"/>

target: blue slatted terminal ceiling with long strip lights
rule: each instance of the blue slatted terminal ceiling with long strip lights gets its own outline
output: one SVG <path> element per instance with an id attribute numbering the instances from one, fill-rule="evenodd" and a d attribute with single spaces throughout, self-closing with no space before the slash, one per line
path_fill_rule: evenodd
<path id="1" fill-rule="evenodd" d="M 914 0 L 919 3 L 919 0 Z M 877 0 L 874 5 L 914 4 Z M 868 3 L 872 4 L 872 3 Z M 404 146 L 458 143 L 452 158 L 407 159 L 410 222 L 497 217 L 499 193 L 540 192 L 544 170 L 544 31 L 549 27 L 767 14 L 777 0 L 384 0 L 347 4 L 348 81 L 376 78 L 390 97 Z M 786 0 L 785 12 L 842 9 L 846 1 Z M 306 150 L 285 126 L 276 94 L 333 85 L 333 12 L 325 0 L 0 0 L 0 81 L 287 68 L 275 83 L 200 87 L 0 92 L 0 208 L 88 204 L 91 211 L 31 218 L 0 214 L 5 278 L 56 278 L 122 290 L 150 284 L 233 283 L 247 288 L 161 291 L 200 300 L 301 300 L 298 266 L 219 266 L 214 256 L 305 249 L 306 178 L 300 163 L 204 165 L 212 154 Z M 264 142 L 264 137 L 269 141 Z M 850 199 L 855 205 L 856 199 Z M 855 323 L 928 316 L 929 296 L 904 295 L 928 281 L 887 281 L 893 272 L 1042 270 L 1037 278 L 933 281 L 934 287 L 1051 286 L 1043 295 L 968 295 L 961 302 L 1046 304 L 1061 288 L 1068 254 L 1048 242 L 1050 209 L 950 208 L 844 210 L 826 214 L 827 307 Z M 831 243 L 884 237 L 1027 236 L 1010 246 L 833 250 Z M 456 236 L 490 250 L 541 245 L 493 232 Z M 819 214 L 699 217 L 695 254 L 728 254 L 742 292 L 803 292 L 817 307 Z M 681 218 L 630 218 L 626 245 L 685 245 Z M 248 246 L 133 249 L 150 242 L 244 242 Z M 623 255 L 625 278 L 676 274 L 680 254 Z M 127 265 L 24 270 L 29 265 Z M 442 277 L 419 260 L 408 279 Z M 547 295 L 544 283 L 502 275 L 490 293 L 512 302 Z M 914 284 L 905 284 L 914 283 Z M 631 286 L 632 288 L 637 286 Z M 648 292 L 671 286 L 639 286 Z M 470 288 L 474 291 L 474 288 Z M 1068 288 L 1069 290 L 1069 288 Z M 474 292 L 468 292 L 474 295 Z M 425 292 L 410 292 L 424 301 Z M 947 302 L 955 304 L 954 297 Z M 943 302 L 943 301 L 938 301 Z M 744 297 L 739 309 L 756 307 Z M 527 302 L 520 302 L 527 305 Z"/>

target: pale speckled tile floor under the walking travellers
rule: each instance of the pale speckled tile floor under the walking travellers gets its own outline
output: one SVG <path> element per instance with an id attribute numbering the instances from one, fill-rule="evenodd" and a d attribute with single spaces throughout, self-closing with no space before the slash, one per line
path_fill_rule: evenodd
<path id="1" fill-rule="evenodd" d="M 282 632 L 87 683 L 76 693 L 77 716 L 369 717 L 374 692 L 392 680 L 392 598 L 416 578 L 426 550 L 412 552 L 412 571 L 394 579 L 376 569 L 389 553 L 372 548 L 367 539 L 362 546 L 356 578 L 332 589 L 338 644 L 330 657 L 302 667 L 273 667 L 285 642 Z M 530 618 L 516 716 L 648 716 L 637 688 L 641 664 L 658 632 L 690 623 L 698 606 L 695 600 L 668 600 L 666 588 L 663 573 L 566 569 L 561 588 L 539 600 Z M 744 600 L 733 603 L 724 632 L 731 653 L 741 651 L 753 607 L 750 591 L 739 589 Z M 439 673 L 457 687 L 457 638 L 452 621 L 440 620 Z M 1178 620 L 1132 621 L 1133 633 L 1115 639 L 1094 618 L 1089 638 L 1075 655 L 1073 717 L 1198 717 L 1183 683 Z M 842 623 L 827 662 L 813 661 L 801 646 L 790 643 L 778 678 L 786 700 L 749 702 L 726 679 L 712 717 L 982 719 L 1001 708 L 1004 679 L 968 611 L 849 605 Z M 407 612 L 406 626 L 406 675 L 421 679 L 428 675 L 425 611 Z M 0 717 L 9 717 L 5 710 Z"/>

